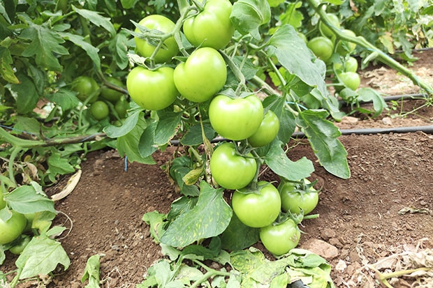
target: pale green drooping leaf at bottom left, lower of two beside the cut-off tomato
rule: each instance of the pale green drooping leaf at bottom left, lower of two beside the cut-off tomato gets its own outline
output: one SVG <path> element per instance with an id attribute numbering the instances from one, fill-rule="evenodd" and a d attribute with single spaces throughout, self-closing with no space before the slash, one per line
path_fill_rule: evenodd
<path id="1" fill-rule="evenodd" d="M 31 278 L 37 275 L 47 275 L 54 271 L 58 264 L 66 270 L 71 260 L 61 243 L 47 236 L 34 236 L 27 244 L 15 265 L 22 269 L 20 279 Z"/>

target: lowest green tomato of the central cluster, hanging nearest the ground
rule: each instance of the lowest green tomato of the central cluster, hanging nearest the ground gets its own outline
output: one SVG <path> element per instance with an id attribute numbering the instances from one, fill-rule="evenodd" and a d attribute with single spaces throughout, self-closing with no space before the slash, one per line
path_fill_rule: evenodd
<path id="1" fill-rule="evenodd" d="M 260 229 L 260 241 L 275 256 L 281 256 L 295 248 L 301 238 L 301 232 L 293 220 L 288 219 L 277 225 Z"/>

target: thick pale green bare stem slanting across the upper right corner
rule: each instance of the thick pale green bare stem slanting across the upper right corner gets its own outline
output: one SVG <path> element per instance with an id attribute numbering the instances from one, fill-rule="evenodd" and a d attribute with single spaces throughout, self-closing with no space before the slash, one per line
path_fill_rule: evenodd
<path id="1" fill-rule="evenodd" d="M 369 43 L 364 37 L 362 36 L 349 36 L 340 29 L 337 29 L 335 26 L 330 25 L 330 20 L 328 18 L 328 15 L 326 15 L 325 10 L 321 9 L 320 3 L 318 0 L 307 0 L 307 3 L 309 3 L 309 6 L 314 8 L 316 10 L 316 13 L 321 17 L 321 20 L 327 24 L 329 29 L 332 30 L 332 32 L 335 33 L 335 35 L 338 38 L 341 38 L 342 40 L 349 41 L 351 43 L 355 43 L 356 45 L 359 45 L 360 47 L 364 47 L 366 50 L 371 51 L 372 53 L 377 54 L 377 59 L 381 61 L 382 63 L 386 64 L 390 68 L 397 70 L 399 73 L 402 73 L 404 76 L 408 77 L 412 80 L 413 84 L 416 84 L 421 89 L 425 90 L 427 93 L 429 93 L 433 97 L 433 88 L 430 86 L 430 84 L 427 84 L 423 82 L 421 79 L 418 79 L 418 77 L 413 73 L 413 71 L 409 70 L 408 68 L 404 67 L 399 62 L 392 59 L 388 54 L 384 53 L 383 51 L 379 50 L 376 46 L 372 45 L 372 43 Z"/>

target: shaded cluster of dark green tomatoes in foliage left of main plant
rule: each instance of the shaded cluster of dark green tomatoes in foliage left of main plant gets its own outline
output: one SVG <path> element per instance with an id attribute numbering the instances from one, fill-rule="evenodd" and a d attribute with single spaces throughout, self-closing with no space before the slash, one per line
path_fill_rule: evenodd
<path id="1" fill-rule="evenodd" d="M 110 119 L 115 123 L 126 117 L 129 101 L 124 93 L 113 89 L 113 86 L 119 89 L 124 87 L 120 79 L 108 76 L 106 81 L 108 84 L 100 85 L 94 78 L 82 75 L 75 78 L 71 86 L 77 93 L 77 98 L 86 105 L 93 119 L 96 121 Z"/>

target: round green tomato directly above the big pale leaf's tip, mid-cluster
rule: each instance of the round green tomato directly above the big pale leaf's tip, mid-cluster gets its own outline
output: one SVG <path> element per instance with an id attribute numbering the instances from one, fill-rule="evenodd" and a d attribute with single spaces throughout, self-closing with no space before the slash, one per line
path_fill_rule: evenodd
<path id="1" fill-rule="evenodd" d="M 256 160 L 251 153 L 247 156 L 238 155 L 231 142 L 219 145 L 210 158 L 210 173 L 215 182 L 230 190 L 247 186 L 257 171 Z"/>

